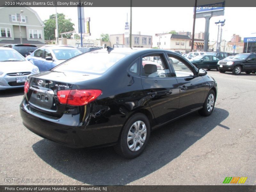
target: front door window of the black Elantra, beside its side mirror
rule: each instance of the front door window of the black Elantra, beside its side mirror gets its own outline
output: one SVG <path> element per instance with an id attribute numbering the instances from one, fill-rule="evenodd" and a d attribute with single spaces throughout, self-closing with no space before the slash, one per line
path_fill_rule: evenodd
<path id="1" fill-rule="evenodd" d="M 175 58 L 172 55 L 168 54 L 169 61 L 174 68 L 176 77 L 186 77 L 186 76 L 193 76 L 193 70 L 190 65 L 188 65 L 186 62 L 180 60 L 179 58 Z M 177 61 L 178 62 L 174 62 Z"/>

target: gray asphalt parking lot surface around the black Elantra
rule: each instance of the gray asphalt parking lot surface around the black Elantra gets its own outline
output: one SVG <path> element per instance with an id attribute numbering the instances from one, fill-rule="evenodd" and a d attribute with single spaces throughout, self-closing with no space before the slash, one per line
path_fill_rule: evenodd
<path id="1" fill-rule="evenodd" d="M 37 136 L 21 121 L 23 89 L 1 91 L 0 184 L 222 185 L 226 177 L 247 177 L 244 185 L 255 185 L 256 74 L 208 75 L 218 83 L 212 115 L 194 113 L 152 132 L 132 160 L 111 147 L 72 149 Z M 62 183 L 6 182 L 11 177 Z"/>

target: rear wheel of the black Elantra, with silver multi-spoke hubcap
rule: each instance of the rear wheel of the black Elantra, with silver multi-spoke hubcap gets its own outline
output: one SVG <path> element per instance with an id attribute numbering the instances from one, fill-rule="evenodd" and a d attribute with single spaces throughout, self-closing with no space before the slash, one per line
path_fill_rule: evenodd
<path id="1" fill-rule="evenodd" d="M 118 143 L 114 146 L 116 153 L 127 159 L 139 156 L 148 143 L 150 131 L 147 116 L 142 113 L 132 115 L 124 124 Z"/>

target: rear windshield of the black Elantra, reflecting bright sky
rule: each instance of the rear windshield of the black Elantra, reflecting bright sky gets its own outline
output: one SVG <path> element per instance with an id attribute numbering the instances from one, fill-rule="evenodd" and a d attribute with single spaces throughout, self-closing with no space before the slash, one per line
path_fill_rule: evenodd
<path id="1" fill-rule="evenodd" d="M 101 74 L 125 56 L 123 53 L 88 52 L 58 65 L 53 70 Z"/>

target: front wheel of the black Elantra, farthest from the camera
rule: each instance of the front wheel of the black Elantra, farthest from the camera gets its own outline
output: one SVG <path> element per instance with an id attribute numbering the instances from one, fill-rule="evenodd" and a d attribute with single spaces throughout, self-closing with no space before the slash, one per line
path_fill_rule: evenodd
<path id="1" fill-rule="evenodd" d="M 198 111 L 199 114 L 202 116 L 211 115 L 214 109 L 215 101 L 216 101 L 215 92 L 211 89 L 204 101 L 203 108 Z"/>

